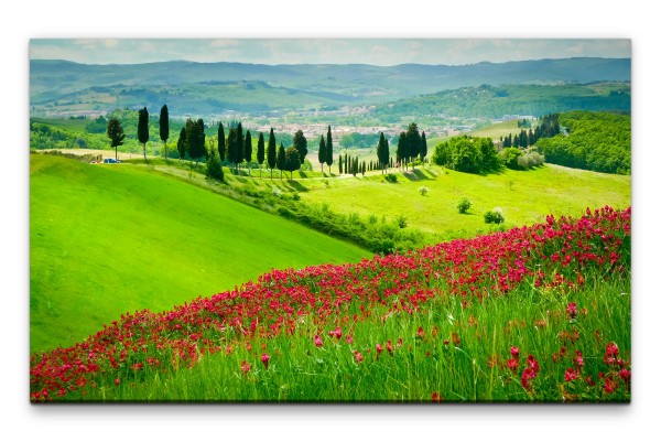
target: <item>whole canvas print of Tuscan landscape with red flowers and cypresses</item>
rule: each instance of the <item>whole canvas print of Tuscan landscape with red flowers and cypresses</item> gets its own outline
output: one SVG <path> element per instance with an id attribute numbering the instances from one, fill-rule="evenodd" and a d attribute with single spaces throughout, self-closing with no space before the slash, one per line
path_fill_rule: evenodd
<path id="1" fill-rule="evenodd" d="M 31 402 L 630 402 L 631 41 L 29 52 Z"/>

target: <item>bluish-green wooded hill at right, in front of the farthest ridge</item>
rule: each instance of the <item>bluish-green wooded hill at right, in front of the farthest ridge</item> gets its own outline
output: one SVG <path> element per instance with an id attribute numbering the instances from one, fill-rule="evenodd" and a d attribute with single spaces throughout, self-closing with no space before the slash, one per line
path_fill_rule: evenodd
<path id="1" fill-rule="evenodd" d="M 567 85 L 481 85 L 444 90 L 378 106 L 383 121 L 402 115 L 502 118 L 570 110 L 631 110 L 630 83 Z"/>

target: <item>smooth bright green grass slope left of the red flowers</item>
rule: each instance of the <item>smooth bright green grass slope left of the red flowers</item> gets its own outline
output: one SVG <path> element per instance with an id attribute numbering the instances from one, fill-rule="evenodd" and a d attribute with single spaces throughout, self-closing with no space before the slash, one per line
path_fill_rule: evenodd
<path id="1" fill-rule="evenodd" d="M 30 158 L 31 353 L 272 268 L 369 256 L 149 168 Z"/>

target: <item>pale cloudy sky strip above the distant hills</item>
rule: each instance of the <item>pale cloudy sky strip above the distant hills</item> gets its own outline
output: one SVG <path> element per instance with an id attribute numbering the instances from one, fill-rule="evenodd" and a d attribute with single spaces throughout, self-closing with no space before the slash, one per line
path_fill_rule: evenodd
<path id="1" fill-rule="evenodd" d="M 460 65 L 539 58 L 630 57 L 628 39 L 35 39 L 31 58 L 87 64 L 188 60 L 259 64 Z"/>

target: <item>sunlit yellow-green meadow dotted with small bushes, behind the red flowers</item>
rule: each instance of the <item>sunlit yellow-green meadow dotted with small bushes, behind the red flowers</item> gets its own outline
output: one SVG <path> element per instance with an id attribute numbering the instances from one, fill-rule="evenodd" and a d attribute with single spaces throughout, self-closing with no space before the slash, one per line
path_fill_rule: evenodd
<path id="1" fill-rule="evenodd" d="M 397 173 L 388 183 L 379 172 L 365 177 L 301 182 L 301 200 L 340 213 L 403 215 L 409 225 L 427 233 L 486 231 L 484 213 L 500 207 L 508 225 L 530 225 L 546 214 L 579 215 L 586 207 L 630 205 L 631 177 L 578 171 L 553 164 L 531 171 L 503 170 L 475 175 L 436 166 Z M 426 186 L 423 196 L 420 187 Z M 459 214 L 457 203 L 467 197 L 473 206 Z"/>

